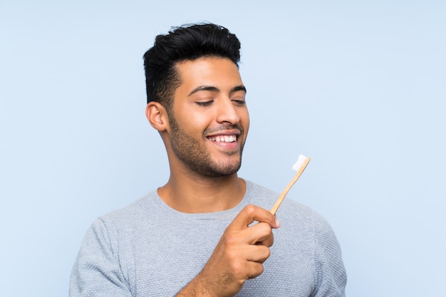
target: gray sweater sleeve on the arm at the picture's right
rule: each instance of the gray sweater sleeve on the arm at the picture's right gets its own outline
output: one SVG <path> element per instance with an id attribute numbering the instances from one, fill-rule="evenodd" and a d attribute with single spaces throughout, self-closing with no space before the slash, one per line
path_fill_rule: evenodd
<path id="1" fill-rule="evenodd" d="M 314 297 L 345 297 L 347 283 L 341 247 L 331 226 L 322 219 L 315 224 L 316 291 Z"/>

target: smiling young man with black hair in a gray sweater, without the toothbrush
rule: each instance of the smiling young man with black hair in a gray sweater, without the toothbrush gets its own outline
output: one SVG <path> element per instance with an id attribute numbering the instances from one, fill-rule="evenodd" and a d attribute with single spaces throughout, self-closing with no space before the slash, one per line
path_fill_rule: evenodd
<path id="1" fill-rule="evenodd" d="M 285 199 L 279 223 L 268 211 L 279 195 L 237 176 L 249 129 L 239 48 L 226 28 L 197 24 L 145 53 L 146 115 L 170 178 L 93 223 L 70 296 L 345 296 L 326 221 Z"/>

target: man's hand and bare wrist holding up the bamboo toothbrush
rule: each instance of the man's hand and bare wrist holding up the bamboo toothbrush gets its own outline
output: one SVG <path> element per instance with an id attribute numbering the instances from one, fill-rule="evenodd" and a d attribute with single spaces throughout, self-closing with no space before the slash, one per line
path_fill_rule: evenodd
<path id="1" fill-rule="evenodd" d="M 249 226 L 254 221 L 259 222 Z M 259 276 L 274 242 L 276 217 L 248 205 L 224 231 L 202 271 L 177 296 L 234 296 L 250 278 Z M 184 295 L 183 295 L 184 294 Z"/>

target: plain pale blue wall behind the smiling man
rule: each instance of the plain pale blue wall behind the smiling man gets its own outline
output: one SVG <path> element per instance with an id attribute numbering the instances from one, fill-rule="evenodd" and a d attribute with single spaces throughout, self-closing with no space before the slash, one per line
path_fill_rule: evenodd
<path id="1" fill-rule="evenodd" d="M 167 181 L 142 54 L 196 21 L 242 41 L 240 175 L 279 192 L 311 156 L 289 199 L 335 229 L 348 296 L 440 296 L 445 15 L 445 1 L 0 0 L 1 296 L 67 296 L 93 219 Z"/>

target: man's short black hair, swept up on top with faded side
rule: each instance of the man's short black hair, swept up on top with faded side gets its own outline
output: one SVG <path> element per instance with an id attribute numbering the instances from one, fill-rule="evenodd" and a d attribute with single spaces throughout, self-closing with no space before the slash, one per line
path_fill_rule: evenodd
<path id="1" fill-rule="evenodd" d="M 156 36 L 153 47 L 144 54 L 147 103 L 156 101 L 170 110 L 175 89 L 181 83 L 176 63 L 207 56 L 229 58 L 238 68 L 240 41 L 216 24 L 183 25 Z"/>

